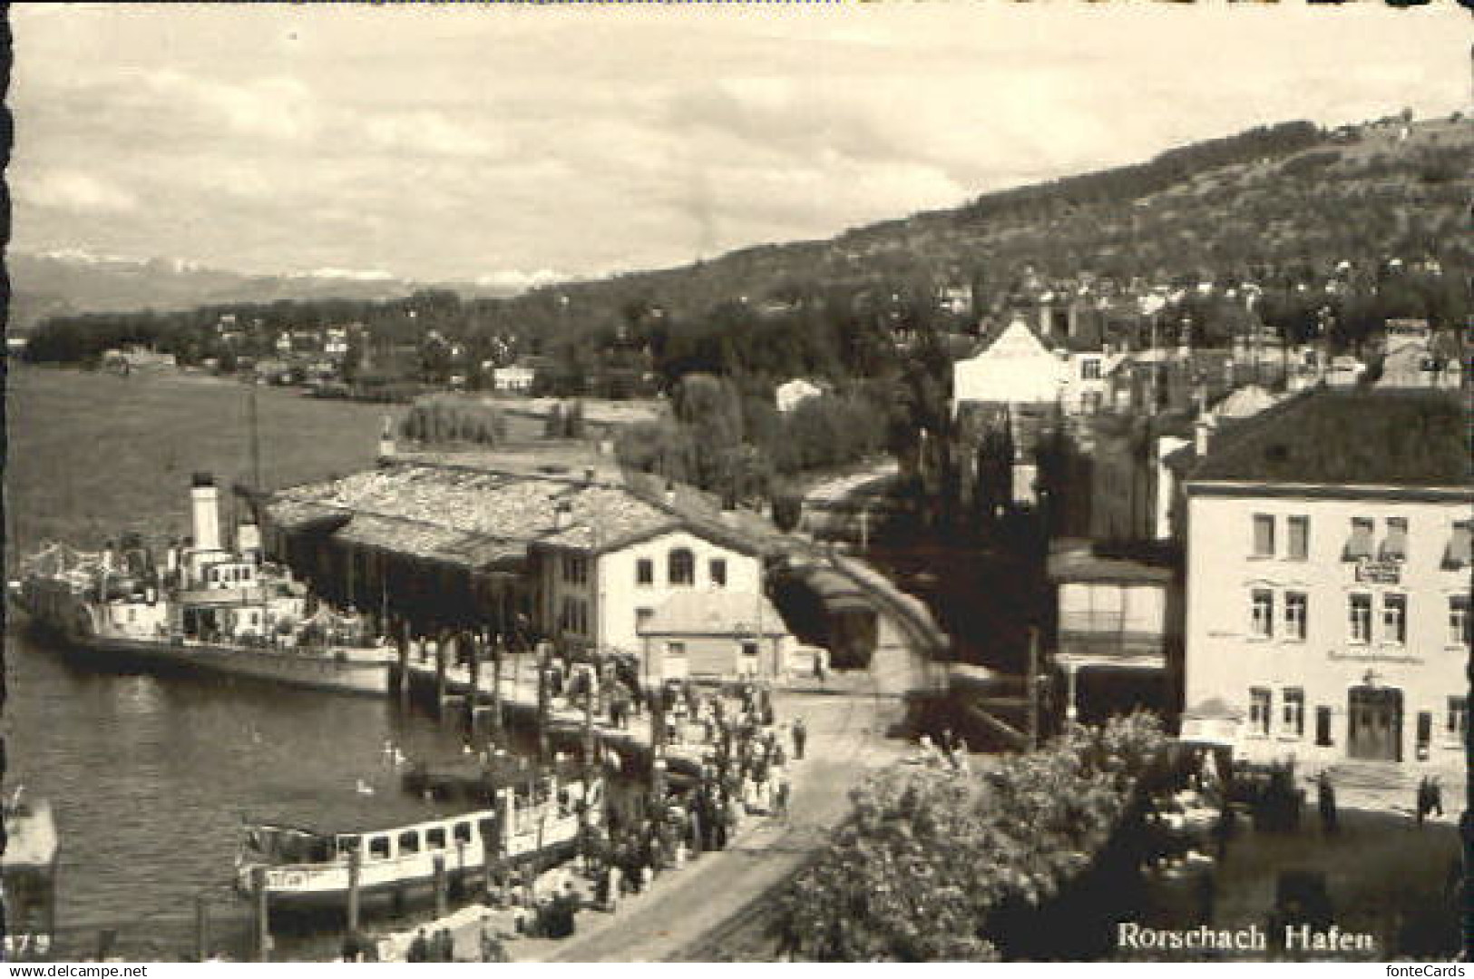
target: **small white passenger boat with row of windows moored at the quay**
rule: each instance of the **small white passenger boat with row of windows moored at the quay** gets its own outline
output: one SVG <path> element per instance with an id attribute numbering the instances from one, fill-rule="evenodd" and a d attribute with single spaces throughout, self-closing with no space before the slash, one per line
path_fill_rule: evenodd
<path id="1" fill-rule="evenodd" d="M 445 882 L 551 861 L 578 848 L 584 826 L 603 815 L 603 780 L 560 780 L 532 773 L 498 781 L 479 808 L 416 823 L 367 823 L 318 829 L 296 823 L 245 827 L 236 857 L 236 886 L 265 892 L 273 907 L 320 908 L 358 899 L 397 904 L 433 893 Z M 439 870 L 438 870 L 439 867 Z"/>

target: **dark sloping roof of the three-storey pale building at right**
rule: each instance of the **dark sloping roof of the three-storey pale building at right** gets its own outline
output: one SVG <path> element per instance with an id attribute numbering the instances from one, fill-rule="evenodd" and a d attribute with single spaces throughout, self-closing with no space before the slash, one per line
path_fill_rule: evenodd
<path id="1" fill-rule="evenodd" d="M 1465 487 L 1470 414 L 1425 391 L 1321 389 L 1243 420 L 1191 482 Z"/>

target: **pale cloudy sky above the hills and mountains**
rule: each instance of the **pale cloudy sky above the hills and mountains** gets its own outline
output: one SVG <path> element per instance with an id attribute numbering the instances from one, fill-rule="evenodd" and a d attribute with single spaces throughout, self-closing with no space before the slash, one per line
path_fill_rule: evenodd
<path id="1" fill-rule="evenodd" d="M 1293 118 L 1467 108 L 1456 4 L 12 7 L 13 248 L 522 283 Z"/>

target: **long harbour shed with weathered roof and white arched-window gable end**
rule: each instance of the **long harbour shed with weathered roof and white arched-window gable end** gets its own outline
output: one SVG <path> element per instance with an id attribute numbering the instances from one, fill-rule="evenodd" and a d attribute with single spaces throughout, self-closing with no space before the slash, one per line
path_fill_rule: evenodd
<path id="1" fill-rule="evenodd" d="M 738 518 L 631 479 L 603 457 L 578 469 L 544 450 L 398 456 L 279 492 L 267 550 L 320 593 L 420 633 L 485 628 L 643 656 L 640 625 L 669 600 L 762 594 L 762 554 Z M 663 666 L 654 675 L 685 672 Z"/>

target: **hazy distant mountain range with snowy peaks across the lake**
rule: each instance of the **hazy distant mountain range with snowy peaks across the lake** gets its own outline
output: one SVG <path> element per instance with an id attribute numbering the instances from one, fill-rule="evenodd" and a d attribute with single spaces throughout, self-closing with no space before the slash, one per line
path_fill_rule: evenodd
<path id="1" fill-rule="evenodd" d="M 187 310 L 227 302 L 280 299 L 394 299 L 419 289 L 451 289 L 463 296 L 507 296 L 516 288 L 486 283 L 423 283 L 386 273 L 323 268 L 307 274 L 259 276 L 171 258 L 119 258 L 83 251 L 9 252 L 10 318 L 25 333 L 53 316 Z"/>

